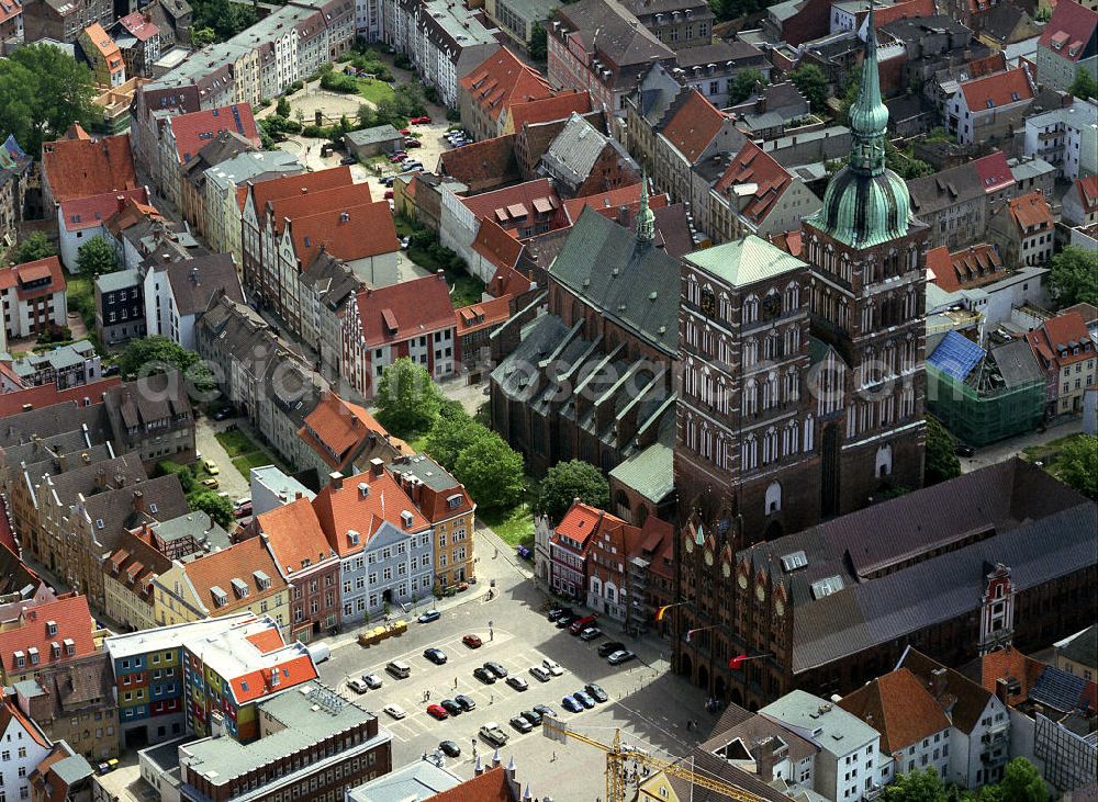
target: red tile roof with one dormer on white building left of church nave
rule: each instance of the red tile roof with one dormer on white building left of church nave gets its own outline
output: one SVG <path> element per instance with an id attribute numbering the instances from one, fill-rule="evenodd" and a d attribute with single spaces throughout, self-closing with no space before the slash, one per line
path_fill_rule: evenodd
<path id="1" fill-rule="evenodd" d="M 362 343 L 377 348 L 453 327 L 453 305 L 446 280 L 439 275 L 358 291 Z"/>

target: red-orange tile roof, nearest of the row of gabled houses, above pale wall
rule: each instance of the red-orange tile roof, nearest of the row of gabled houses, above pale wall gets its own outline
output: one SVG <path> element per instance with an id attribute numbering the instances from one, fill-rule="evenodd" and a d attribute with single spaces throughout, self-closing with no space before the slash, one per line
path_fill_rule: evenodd
<path id="1" fill-rule="evenodd" d="M 322 247 L 348 262 L 401 249 L 386 201 L 296 217 L 290 223 L 290 231 L 302 270 L 312 263 Z"/>

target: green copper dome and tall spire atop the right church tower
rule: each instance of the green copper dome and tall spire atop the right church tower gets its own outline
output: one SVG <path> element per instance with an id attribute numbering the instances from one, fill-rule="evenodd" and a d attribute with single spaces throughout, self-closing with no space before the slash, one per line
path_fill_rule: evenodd
<path id="1" fill-rule="evenodd" d="M 888 109 L 881 100 L 872 0 L 862 80 L 849 117 L 850 162 L 831 179 L 824 205 L 807 222 L 847 245 L 864 248 L 903 237 L 911 217 L 907 184 L 885 167 Z"/>

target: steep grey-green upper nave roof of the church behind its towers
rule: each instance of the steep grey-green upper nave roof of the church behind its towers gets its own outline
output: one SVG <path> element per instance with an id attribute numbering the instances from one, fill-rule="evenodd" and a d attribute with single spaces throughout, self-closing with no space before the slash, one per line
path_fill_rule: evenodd
<path id="1" fill-rule="evenodd" d="M 674 354 L 679 350 L 679 262 L 587 207 L 549 270 L 606 317 Z"/>

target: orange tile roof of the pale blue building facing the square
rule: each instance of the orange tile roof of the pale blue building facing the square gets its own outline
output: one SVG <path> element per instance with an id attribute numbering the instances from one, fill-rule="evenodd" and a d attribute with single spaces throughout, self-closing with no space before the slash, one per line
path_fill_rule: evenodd
<path id="1" fill-rule="evenodd" d="M 338 489 L 330 482 L 321 488 L 313 499 L 313 509 L 316 510 L 316 519 L 321 522 L 328 545 L 341 557 L 360 552 L 385 521 L 411 533 L 422 532 L 430 527 L 396 479 L 385 471 L 380 476 L 371 472 L 348 476 L 340 484 Z M 368 487 L 365 495 L 359 489 L 360 484 Z M 407 529 L 401 520 L 401 512 L 405 510 L 412 513 L 412 526 Z M 351 543 L 347 536 L 349 530 L 359 533 L 357 544 Z"/>

